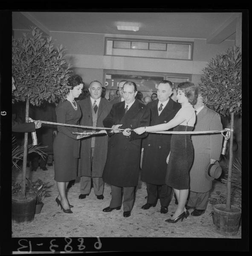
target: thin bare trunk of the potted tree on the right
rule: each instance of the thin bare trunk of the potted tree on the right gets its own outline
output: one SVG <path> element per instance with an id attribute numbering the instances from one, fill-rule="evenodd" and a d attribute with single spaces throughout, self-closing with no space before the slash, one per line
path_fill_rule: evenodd
<path id="1" fill-rule="evenodd" d="M 231 130 L 234 129 L 234 112 L 231 112 Z M 232 180 L 232 165 L 233 165 L 233 137 L 234 131 L 230 132 L 229 144 L 229 172 L 227 181 L 227 198 L 226 198 L 226 211 L 231 209 L 231 180 Z"/>

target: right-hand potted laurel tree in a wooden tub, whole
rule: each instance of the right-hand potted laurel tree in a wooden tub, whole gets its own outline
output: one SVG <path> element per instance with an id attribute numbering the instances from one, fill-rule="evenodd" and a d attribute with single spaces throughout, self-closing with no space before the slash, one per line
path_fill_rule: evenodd
<path id="1" fill-rule="evenodd" d="M 226 204 L 214 205 L 214 223 L 217 233 L 235 235 L 240 225 L 241 209 L 231 206 L 231 180 L 233 162 L 234 116 L 241 115 L 241 52 L 231 47 L 224 54 L 213 58 L 203 70 L 200 90 L 206 105 L 231 117 L 229 167 Z"/>

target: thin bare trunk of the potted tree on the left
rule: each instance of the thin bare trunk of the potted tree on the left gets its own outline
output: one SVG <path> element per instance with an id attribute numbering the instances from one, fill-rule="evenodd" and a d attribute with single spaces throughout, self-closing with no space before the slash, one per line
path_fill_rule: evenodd
<path id="1" fill-rule="evenodd" d="M 29 117 L 29 99 L 26 99 L 26 122 Z M 26 163 L 27 163 L 28 132 L 24 134 L 23 144 L 23 172 L 22 172 L 22 197 L 26 197 Z"/>

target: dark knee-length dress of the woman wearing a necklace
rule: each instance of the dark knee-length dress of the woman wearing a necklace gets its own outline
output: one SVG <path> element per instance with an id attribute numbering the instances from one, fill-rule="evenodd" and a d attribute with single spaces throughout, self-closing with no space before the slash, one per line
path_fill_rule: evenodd
<path id="1" fill-rule="evenodd" d="M 60 102 L 56 108 L 57 122 L 76 125 L 81 118 L 81 110 L 77 103 L 77 111 L 66 100 Z M 53 142 L 54 179 L 67 182 L 77 177 L 80 140 L 72 132 L 78 132 L 77 127 L 58 125 L 58 134 Z"/>

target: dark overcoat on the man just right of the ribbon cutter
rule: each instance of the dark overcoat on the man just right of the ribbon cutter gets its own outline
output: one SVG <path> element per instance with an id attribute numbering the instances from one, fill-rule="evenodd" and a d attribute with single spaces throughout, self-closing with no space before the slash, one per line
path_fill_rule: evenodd
<path id="1" fill-rule="evenodd" d="M 147 105 L 151 111 L 151 125 L 169 122 L 181 108 L 179 103 L 170 98 L 159 116 L 157 110 L 158 102 L 158 100 L 155 100 Z M 169 131 L 172 130 L 170 129 Z M 143 144 L 142 181 L 156 185 L 165 184 L 166 158 L 171 149 L 171 134 L 149 133 Z"/>

